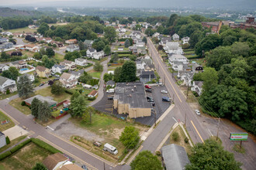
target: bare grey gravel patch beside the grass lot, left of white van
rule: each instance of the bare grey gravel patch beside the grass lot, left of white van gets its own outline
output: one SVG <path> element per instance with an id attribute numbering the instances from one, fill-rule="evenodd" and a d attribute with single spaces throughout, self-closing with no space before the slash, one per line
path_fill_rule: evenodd
<path id="1" fill-rule="evenodd" d="M 80 136 L 81 138 L 86 138 L 88 141 L 104 141 L 99 135 L 86 130 L 85 128 L 79 128 L 70 121 L 64 121 L 62 124 L 58 125 L 54 131 L 55 134 L 60 135 L 67 140 L 70 140 L 72 135 Z"/>

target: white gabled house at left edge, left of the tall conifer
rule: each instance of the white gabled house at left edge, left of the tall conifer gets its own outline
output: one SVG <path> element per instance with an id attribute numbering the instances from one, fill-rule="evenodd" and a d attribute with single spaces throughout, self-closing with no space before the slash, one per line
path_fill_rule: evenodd
<path id="1" fill-rule="evenodd" d="M 9 90 L 11 93 L 17 90 L 16 81 L 0 76 L 0 91 L 6 93 Z"/>

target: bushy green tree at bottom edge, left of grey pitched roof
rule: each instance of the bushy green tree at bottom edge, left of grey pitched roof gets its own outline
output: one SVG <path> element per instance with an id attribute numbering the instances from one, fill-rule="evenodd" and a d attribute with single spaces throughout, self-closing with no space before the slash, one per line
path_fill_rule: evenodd
<path id="1" fill-rule="evenodd" d="M 153 155 L 150 151 L 141 151 L 139 155 L 133 159 L 130 167 L 132 170 L 162 170 L 161 162 L 157 156 Z"/>

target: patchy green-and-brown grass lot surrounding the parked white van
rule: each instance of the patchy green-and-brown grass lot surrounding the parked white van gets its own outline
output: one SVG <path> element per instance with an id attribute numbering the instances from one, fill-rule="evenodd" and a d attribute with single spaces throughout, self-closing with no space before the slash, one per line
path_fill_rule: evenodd
<path id="1" fill-rule="evenodd" d="M 102 158 L 106 158 L 106 160 L 109 160 L 110 162 L 118 161 L 119 157 L 123 155 L 123 151 L 125 150 L 125 147 L 119 141 L 119 135 L 122 133 L 126 126 L 134 125 L 126 121 L 120 121 L 116 117 L 110 117 L 105 114 L 92 114 L 92 124 L 85 124 L 85 122 L 78 118 L 70 118 L 70 121 L 81 128 L 85 128 L 88 131 L 99 134 L 101 138 L 105 139 L 101 148 L 95 147 L 92 145 L 92 141 L 87 141 L 85 138 L 76 137 L 77 139 L 75 140 L 73 137 L 71 138 L 71 141 L 77 145 L 81 145 L 81 147 L 86 148 L 89 151 L 94 152 L 96 155 L 99 155 Z M 106 142 L 117 148 L 117 155 L 112 155 L 108 152 L 102 151 L 103 145 Z"/>

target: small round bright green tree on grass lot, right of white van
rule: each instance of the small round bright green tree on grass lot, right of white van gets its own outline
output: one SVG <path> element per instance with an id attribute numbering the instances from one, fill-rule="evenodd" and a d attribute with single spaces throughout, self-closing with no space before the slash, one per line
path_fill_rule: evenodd
<path id="1" fill-rule="evenodd" d="M 119 137 L 119 141 L 128 149 L 135 148 L 140 141 L 139 131 L 132 126 L 126 126 Z"/>

